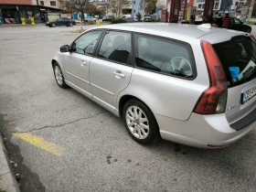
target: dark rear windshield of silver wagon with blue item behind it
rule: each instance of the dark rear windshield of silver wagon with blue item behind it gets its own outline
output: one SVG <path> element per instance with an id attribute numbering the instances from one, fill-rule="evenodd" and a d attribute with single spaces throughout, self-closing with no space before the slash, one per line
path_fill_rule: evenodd
<path id="1" fill-rule="evenodd" d="M 256 79 L 256 44 L 251 37 L 232 37 L 213 48 L 225 70 L 229 88 Z"/>

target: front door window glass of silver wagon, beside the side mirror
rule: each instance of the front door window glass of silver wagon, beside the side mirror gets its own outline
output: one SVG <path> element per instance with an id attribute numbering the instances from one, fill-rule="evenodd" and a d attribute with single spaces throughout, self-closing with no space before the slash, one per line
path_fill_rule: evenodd
<path id="1" fill-rule="evenodd" d="M 91 55 L 100 35 L 101 30 L 91 31 L 84 34 L 72 44 L 71 51 L 80 54 Z"/>

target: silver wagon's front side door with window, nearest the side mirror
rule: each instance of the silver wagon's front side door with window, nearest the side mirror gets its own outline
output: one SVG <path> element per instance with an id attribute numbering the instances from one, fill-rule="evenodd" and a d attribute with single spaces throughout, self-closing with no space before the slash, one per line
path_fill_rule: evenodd
<path id="1" fill-rule="evenodd" d="M 64 54 L 65 78 L 81 90 L 91 93 L 89 69 L 95 45 L 102 30 L 94 30 L 78 37 Z"/>

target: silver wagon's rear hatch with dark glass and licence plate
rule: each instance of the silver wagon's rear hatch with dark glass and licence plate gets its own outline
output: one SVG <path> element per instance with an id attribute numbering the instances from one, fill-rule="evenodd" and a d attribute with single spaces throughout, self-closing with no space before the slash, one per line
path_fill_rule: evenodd
<path id="1" fill-rule="evenodd" d="M 228 81 L 225 114 L 229 123 L 235 123 L 256 108 L 256 44 L 240 35 L 212 46 Z"/>

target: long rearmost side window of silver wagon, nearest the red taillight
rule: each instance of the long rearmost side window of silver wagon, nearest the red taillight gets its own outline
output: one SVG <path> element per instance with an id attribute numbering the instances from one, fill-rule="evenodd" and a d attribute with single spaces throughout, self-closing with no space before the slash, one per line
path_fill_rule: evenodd
<path id="1" fill-rule="evenodd" d="M 195 67 L 190 49 L 182 43 L 135 35 L 135 62 L 140 68 L 193 78 Z"/>

